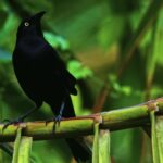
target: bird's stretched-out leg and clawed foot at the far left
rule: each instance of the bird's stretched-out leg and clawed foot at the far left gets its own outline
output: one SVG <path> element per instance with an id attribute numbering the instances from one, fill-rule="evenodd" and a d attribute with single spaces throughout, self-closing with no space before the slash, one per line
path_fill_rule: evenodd
<path id="1" fill-rule="evenodd" d="M 11 124 L 18 124 L 18 123 L 23 122 L 27 116 L 29 116 L 32 113 L 34 113 L 37 109 L 38 109 L 38 106 L 29 110 L 28 112 L 26 112 L 25 114 L 21 115 L 20 117 L 15 118 L 15 120 L 12 120 L 12 121 L 4 120 L 4 121 L 2 121 L 2 122 L 7 122 L 3 126 L 3 129 L 5 129 Z"/>

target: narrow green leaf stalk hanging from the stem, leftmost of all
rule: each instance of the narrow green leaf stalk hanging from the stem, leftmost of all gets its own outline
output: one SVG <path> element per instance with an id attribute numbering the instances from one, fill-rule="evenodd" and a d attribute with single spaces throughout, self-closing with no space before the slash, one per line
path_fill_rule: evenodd
<path id="1" fill-rule="evenodd" d="M 22 128 L 17 128 L 17 135 L 16 135 L 16 139 L 15 139 L 15 142 L 14 142 L 14 153 L 13 153 L 12 163 L 17 163 L 17 160 L 18 160 L 18 149 L 20 149 L 20 143 L 21 143 L 21 134 L 22 134 Z"/>

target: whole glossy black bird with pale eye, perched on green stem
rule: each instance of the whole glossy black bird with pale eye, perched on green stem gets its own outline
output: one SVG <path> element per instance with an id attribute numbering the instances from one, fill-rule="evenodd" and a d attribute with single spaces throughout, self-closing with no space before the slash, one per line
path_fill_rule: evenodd
<path id="1" fill-rule="evenodd" d="M 66 70 L 58 52 L 45 39 L 40 25 L 43 14 L 45 12 L 37 13 L 21 23 L 13 52 L 17 80 L 36 106 L 10 123 L 23 121 L 39 109 L 42 102 L 50 105 L 55 115 L 54 121 L 75 116 L 70 95 L 77 95 L 76 78 Z M 88 147 L 76 139 L 67 138 L 66 141 L 77 161 L 90 159 Z"/>

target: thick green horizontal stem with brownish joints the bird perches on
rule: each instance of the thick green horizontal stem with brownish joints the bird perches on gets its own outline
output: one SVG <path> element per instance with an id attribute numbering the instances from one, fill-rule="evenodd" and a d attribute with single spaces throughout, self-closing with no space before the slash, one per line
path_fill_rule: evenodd
<path id="1" fill-rule="evenodd" d="M 163 98 L 114 111 L 92 114 L 89 116 L 67 118 L 55 125 L 50 122 L 27 122 L 20 125 L 9 125 L 5 129 L 0 125 L 0 142 L 14 141 L 18 127 L 23 128 L 23 136 L 33 137 L 34 140 L 53 138 L 76 137 L 93 134 L 93 126 L 97 121 L 100 129 L 118 130 L 129 127 L 138 127 L 150 124 L 149 112 L 153 105 L 158 105 L 158 114 L 163 113 Z"/>

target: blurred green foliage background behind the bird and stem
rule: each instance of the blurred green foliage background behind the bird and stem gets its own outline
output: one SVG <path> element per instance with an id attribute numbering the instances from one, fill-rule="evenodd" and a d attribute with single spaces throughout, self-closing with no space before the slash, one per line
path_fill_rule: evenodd
<path id="1" fill-rule="evenodd" d="M 14 118 L 33 106 L 17 84 L 11 58 L 21 20 L 42 10 L 47 11 L 42 20 L 45 37 L 78 79 L 79 93 L 73 97 L 78 115 L 95 112 L 105 84 L 108 96 L 98 112 L 161 97 L 161 0 L 1 0 L 0 118 Z M 51 116 L 49 106 L 43 104 L 29 120 Z M 33 155 L 39 163 L 67 163 L 72 158 L 63 140 L 34 142 Z M 112 133 L 111 158 L 115 163 L 150 163 L 150 140 L 139 128 Z M 0 160 L 11 162 L 1 150 Z"/>

